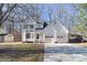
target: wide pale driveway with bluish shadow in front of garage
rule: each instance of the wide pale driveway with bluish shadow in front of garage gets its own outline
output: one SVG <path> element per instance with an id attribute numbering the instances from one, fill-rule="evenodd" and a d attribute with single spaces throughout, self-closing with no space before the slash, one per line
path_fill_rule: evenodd
<path id="1" fill-rule="evenodd" d="M 87 62 L 87 47 L 68 43 L 45 44 L 44 62 Z"/>

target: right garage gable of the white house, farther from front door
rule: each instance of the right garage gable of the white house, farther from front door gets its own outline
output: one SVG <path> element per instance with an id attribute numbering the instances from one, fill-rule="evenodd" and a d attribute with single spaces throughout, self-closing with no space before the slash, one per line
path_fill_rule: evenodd
<path id="1" fill-rule="evenodd" d="M 68 42 L 68 30 L 57 21 L 56 24 L 53 24 L 55 28 L 56 32 L 56 42 L 57 43 L 65 43 Z"/>

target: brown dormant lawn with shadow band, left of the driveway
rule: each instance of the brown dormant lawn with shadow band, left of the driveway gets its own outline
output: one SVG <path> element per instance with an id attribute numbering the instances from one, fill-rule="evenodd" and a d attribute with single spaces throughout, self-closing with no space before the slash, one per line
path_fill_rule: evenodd
<path id="1" fill-rule="evenodd" d="M 3 62 L 41 62 L 44 45 L 22 42 L 0 43 L 0 61 Z"/>

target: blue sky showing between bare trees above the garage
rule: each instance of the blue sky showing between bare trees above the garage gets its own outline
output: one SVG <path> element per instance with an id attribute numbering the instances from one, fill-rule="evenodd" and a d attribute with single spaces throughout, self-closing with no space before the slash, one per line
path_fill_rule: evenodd
<path id="1" fill-rule="evenodd" d="M 41 6 L 43 6 L 43 4 L 41 4 Z M 74 6 L 73 3 L 52 3 L 52 4 L 50 4 L 51 9 L 54 10 L 54 15 L 56 15 L 56 9 L 57 9 L 57 11 L 59 9 L 63 9 L 65 11 L 64 13 L 62 13 L 62 18 L 61 18 L 59 22 L 63 23 L 66 29 L 68 29 L 69 22 L 74 22 L 74 21 L 69 20 L 69 17 L 74 15 L 74 13 L 76 12 L 75 9 L 73 8 L 73 6 Z M 50 21 L 48 12 L 50 12 L 48 4 L 45 3 L 44 4 L 44 12 L 42 15 L 43 20 Z M 58 14 L 59 14 L 59 12 L 58 12 Z M 65 17 L 65 18 L 63 18 L 63 17 Z M 72 24 L 70 28 L 74 24 Z"/>

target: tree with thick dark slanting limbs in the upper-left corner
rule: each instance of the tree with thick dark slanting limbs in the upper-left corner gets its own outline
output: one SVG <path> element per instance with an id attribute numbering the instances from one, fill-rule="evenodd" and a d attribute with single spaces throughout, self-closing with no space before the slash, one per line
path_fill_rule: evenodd
<path id="1" fill-rule="evenodd" d="M 0 26 L 6 22 L 9 13 L 15 8 L 15 3 L 0 3 Z"/>

